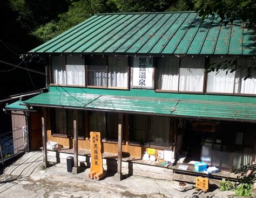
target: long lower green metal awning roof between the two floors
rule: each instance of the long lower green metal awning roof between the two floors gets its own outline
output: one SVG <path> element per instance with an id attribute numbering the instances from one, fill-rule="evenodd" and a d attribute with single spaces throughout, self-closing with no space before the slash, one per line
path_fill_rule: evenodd
<path id="1" fill-rule="evenodd" d="M 81 93 L 48 92 L 25 104 L 41 107 L 63 107 L 106 111 L 138 112 L 187 118 L 232 119 L 256 121 L 256 104 L 174 100 L 165 98 L 111 96 Z"/>

